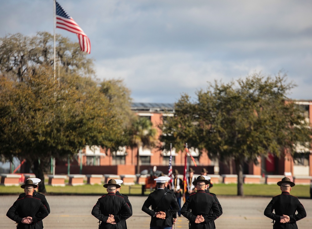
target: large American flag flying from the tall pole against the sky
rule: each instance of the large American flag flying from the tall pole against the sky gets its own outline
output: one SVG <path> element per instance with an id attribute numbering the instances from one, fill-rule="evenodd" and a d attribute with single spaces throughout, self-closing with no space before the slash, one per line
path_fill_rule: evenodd
<path id="1" fill-rule="evenodd" d="M 56 28 L 65 29 L 69 32 L 76 33 L 79 39 L 81 51 L 90 54 L 91 44 L 89 37 L 83 32 L 74 19 L 56 2 Z"/>

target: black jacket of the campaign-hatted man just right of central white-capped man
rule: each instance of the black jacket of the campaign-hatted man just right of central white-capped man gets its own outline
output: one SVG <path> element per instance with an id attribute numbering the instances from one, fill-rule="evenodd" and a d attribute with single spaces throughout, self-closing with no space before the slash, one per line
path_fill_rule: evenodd
<path id="1" fill-rule="evenodd" d="M 190 221 L 191 229 L 211 228 L 212 224 L 209 222 L 220 216 L 220 210 L 212 195 L 204 190 L 198 190 L 196 193 L 191 194 L 183 204 L 181 214 Z M 200 215 L 204 217 L 205 221 L 195 223 L 196 217 Z"/>

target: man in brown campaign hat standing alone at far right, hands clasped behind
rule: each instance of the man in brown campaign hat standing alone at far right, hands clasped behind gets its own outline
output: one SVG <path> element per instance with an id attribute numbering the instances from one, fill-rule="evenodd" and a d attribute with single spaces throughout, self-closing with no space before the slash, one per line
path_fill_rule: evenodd
<path id="1" fill-rule="evenodd" d="M 274 229 L 297 229 L 296 222 L 307 214 L 298 197 L 290 195 L 291 187 L 294 187 L 295 183 L 284 177 L 277 185 L 280 186 L 282 193 L 272 198 L 264 210 L 264 215 L 275 221 Z"/>

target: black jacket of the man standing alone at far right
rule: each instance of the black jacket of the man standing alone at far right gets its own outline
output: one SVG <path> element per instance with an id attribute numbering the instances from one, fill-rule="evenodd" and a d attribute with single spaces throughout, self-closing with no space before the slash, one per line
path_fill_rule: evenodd
<path id="1" fill-rule="evenodd" d="M 275 214 L 273 213 L 275 211 Z M 298 214 L 295 214 L 296 211 Z M 298 197 L 292 196 L 289 192 L 282 192 L 282 194 L 272 198 L 264 210 L 264 215 L 275 220 L 275 229 L 297 229 L 297 221 L 306 217 L 305 208 L 300 203 Z M 286 215 L 290 217 L 289 223 L 280 223 L 280 217 Z"/>

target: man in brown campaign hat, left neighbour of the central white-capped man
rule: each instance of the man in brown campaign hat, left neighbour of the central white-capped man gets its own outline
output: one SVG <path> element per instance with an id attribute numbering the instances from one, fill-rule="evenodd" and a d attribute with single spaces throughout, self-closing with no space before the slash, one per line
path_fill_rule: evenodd
<path id="1" fill-rule="evenodd" d="M 114 179 L 110 179 L 103 187 L 107 188 L 108 193 L 98 199 L 91 214 L 101 221 L 99 229 L 122 229 L 120 221 L 131 216 L 130 207 L 123 197 L 115 194 L 120 185 Z"/>

